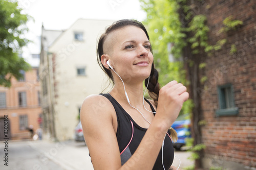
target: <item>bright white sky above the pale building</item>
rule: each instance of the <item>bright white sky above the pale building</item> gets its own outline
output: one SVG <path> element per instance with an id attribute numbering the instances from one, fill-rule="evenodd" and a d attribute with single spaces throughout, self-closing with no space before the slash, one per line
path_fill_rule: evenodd
<path id="1" fill-rule="evenodd" d="M 67 30 L 79 18 L 84 19 L 137 19 L 143 21 L 146 13 L 139 0 L 17 0 L 23 14 L 33 17 L 27 22 L 32 40 L 23 47 L 23 57 L 32 66 L 39 65 L 39 59 L 31 54 L 40 53 L 41 27 L 47 30 Z"/>

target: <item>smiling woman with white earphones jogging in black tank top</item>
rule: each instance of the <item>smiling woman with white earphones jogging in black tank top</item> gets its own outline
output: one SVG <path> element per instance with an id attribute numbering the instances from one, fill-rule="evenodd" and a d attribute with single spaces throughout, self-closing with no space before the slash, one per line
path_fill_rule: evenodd
<path id="1" fill-rule="evenodd" d="M 159 90 L 151 43 L 136 20 L 113 23 L 100 37 L 97 52 L 114 87 L 88 96 L 81 107 L 94 169 L 168 169 L 174 159 L 168 129 L 188 99 L 186 87 L 172 81 Z M 154 101 L 143 98 L 144 80 Z"/>

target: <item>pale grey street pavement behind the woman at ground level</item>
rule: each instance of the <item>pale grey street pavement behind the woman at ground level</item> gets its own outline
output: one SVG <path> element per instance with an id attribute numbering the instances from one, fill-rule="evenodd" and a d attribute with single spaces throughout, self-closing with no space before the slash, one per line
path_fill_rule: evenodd
<path id="1" fill-rule="evenodd" d="M 46 140 L 8 141 L 8 152 L 4 141 L 0 143 L 0 156 L 2 158 L 0 169 L 8 170 L 93 170 L 89 151 L 84 142 L 73 140 L 51 142 Z M 5 153 L 8 154 L 8 163 L 5 165 Z M 181 166 L 193 164 L 187 160 L 188 152 L 176 151 L 175 155 L 181 160 Z M 179 165 L 175 157 L 173 165 Z"/>

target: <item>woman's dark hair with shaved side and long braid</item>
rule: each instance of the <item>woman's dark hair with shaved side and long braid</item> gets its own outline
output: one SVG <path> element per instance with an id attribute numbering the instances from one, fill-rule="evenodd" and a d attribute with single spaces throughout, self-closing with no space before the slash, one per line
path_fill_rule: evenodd
<path id="1" fill-rule="evenodd" d="M 103 53 L 103 43 L 106 39 L 106 36 L 108 36 L 109 33 L 113 32 L 115 30 L 121 29 L 123 27 L 126 27 L 126 26 L 135 26 L 135 27 L 142 29 L 144 31 L 144 33 L 146 34 L 147 39 L 150 40 L 150 37 L 148 36 L 144 25 L 141 22 L 134 20 L 134 19 L 118 20 L 105 30 L 105 33 L 103 33 L 100 36 L 99 41 L 98 41 L 97 60 L 98 60 L 98 64 L 100 65 L 101 69 L 103 69 L 103 71 L 106 73 L 106 75 L 108 75 L 113 82 L 114 82 L 114 79 L 113 79 L 111 70 L 105 68 L 103 66 L 103 64 L 101 63 L 101 56 L 104 54 Z M 152 48 L 151 48 L 151 52 L 152 52 Z M 147 85 L 147 82 L 148 82 L 148 78 L 145 80 L 145 86 Z M 160 86 L 158 83 L 158 71 L 155 69 L 154 62 L 152 63 L 150 82 L 148 83 L 147 89 L 148 89 L 148 93 L 150 94 L 151 98 L 154 100 L 154 102 L 157 106 L 157 100 L 158 100 Z"/>

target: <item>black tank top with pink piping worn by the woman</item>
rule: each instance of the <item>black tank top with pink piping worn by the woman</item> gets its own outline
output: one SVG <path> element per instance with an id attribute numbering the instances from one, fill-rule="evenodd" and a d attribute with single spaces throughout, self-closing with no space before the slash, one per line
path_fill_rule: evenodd
<path id="1" fill-rule="evenodd" d="M 118 141 L 121 162 L 123 165 L 134 154 L 143 136 L 145 135 L 147 129 L 137 125 L 136 122 L 134 122 L 133 118 L 121 107 L 121 105 L 109 93 L 100 94 L 100 95 L 103 95 L 107 99 L 109 99 L 116 111 L 117 123 L 118 123 L 116 137 Z M 154 107 L 151 105 L 151 103 L 146 99 L 145 101 L 148 104 L 150 104 L 152 111 L 156 112 Z M 168 132 L 165 135 L 164 147 L 163 147 L 163 163 L 164 163 L 165 169 L 168 169 L 170 165 L 172 165 L 173 159 L 174 159 L 173 143 L 169 135 L 170 135 L 170 131 L 168 130 Z M 163 169 L 162 149 L 158 154 L 158 157 L 153 169 L 154 170 Z"/>

